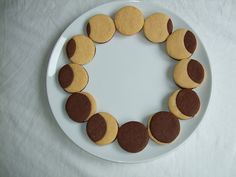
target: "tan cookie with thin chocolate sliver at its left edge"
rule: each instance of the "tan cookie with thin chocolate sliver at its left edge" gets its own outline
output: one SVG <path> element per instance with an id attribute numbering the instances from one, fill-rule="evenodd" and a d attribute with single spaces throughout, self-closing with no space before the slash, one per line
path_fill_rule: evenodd
<path id="1" fill-rule="evenodd" d="M 115 31 L 115 24 L 108 15 L 95 15 L 89 19 L 87 24 L 88 36 L 97 43 L 108 42 L 115 34 Z"/>

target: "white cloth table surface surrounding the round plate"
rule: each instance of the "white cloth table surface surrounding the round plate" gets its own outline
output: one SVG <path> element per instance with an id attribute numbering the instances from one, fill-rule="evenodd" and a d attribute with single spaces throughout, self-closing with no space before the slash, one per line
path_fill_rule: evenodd
<path id="1" fill-rule="evenodd" d="M 0 176 L 236 176 L 236 1 L 156 1 L 186 20 L 204 43 L 213 90 L 198 129 L 154 161 L 98 159 L 66 137 L 48 105 L 52 48 L 87 10 L 109 1 L 0 0 Z"/>

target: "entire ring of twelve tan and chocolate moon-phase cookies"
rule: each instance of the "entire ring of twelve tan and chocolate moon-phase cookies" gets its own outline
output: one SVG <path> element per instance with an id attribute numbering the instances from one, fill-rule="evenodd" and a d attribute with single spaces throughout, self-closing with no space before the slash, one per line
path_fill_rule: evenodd
<path id="1" fill-rule="evenodd" d="M 58 74 L 60 86 L 71 94 L 65 104 L 68 117 L 75 123 L 86 122 L 85 133 L 97 145 L 107 145 L 117 139 L 122 149 L 136 153 L 146 147 L 149 139 L 161 145 L 173 142 L 180 134 L 180 119 L 193 118 L 200 109 L 200 99 L 193 89 L 201 85 L 205 71 L 200 62 L 191 58 L 197 48 L 195 35 L 188 29 L 173 31 L 173 22 L 166 14 L 156 12 L 144 18 L 134 6 L 119 9 L 114 20 L 105 14 L 94 15 L 86 25 L 86 35 L 77 34 L 67 41 L 66 54 L 71 62 Z M 138 121 L 119 125 L 110 113 L 97 112 L 95 98 L 82 91 L 89 81 L 83 65 L 95 56 L 95 44 L 110 41 L 116 31 L 130 36 L 141 30 L 153 45 L 166 42 L 166 53 L 178 61 L 173 80 L 179 89 L 169 97 L 169 111 L 154 113 L 146 125 Z"/>

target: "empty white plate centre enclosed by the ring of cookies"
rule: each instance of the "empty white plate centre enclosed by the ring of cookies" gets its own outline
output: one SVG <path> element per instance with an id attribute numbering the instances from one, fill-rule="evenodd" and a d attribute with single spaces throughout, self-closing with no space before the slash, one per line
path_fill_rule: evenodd
<path id="1" fill-rule="evenodd" d="M 118 32 L 111 41 L 96 44 L 96 55 L 86 65 L 89 84 L 98 111 L 128 120 L 146 122 L 151 114 L 167 110 L 168 96 L 175 84 L 175 62 L 165 51 L 165 44 L 149 42 L 142 32 L 123 36 Z"/>

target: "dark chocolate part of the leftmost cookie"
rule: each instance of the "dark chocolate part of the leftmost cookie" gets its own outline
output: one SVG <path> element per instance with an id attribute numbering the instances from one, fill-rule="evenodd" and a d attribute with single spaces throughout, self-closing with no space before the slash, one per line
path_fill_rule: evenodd
<path id="1" fill-rule="evenodd" d="M 73 71 L 69 65 L 63 66 L 59 71 L 58 81 L 62 88 L 68 87 L 73 81 Z"/>

